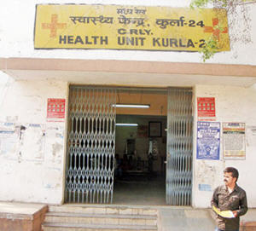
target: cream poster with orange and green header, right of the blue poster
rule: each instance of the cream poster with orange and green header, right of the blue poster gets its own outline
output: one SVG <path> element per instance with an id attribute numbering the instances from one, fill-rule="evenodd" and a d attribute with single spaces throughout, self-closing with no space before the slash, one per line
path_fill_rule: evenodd
<path id="1" fill-rule="evenodd" d="M 223 123 L 224 159 L 245 159 L 245 123 Z"/>

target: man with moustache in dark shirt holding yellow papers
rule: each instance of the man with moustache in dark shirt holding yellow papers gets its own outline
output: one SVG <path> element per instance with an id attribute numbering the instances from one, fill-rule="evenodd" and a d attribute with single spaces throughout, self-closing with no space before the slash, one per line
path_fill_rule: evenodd
<path id="1" fill-rule="evenodd" d="M 216 214 L 218 231 L 238 231 L 240 216 L 247 212 L 247 194 L 236 181 L 238 170 L 228 167 L 224 170 L 224 185 L 218 186 L 212 195 L 211 205 L 219 211 L 232 211 L 233 218 L 224 218 Z"/>

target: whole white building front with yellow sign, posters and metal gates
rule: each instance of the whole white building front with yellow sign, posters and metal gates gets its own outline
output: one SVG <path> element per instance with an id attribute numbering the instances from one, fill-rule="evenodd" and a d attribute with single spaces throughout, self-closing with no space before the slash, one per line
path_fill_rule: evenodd
<path id="1" fill-rule="evenodd" d="M 166 146 L 162 148 L 167 162 L 164 167 L 166 204 L 208 207 L 212 191 L 222 182 L 224 168 L 235 166 L 240 171 L 238 184 L 247 191 L 248 205 L 255 207 L 256 16 L 253 12 L 256 5 L 247 4 L 246 9 L 251 42 L 232 40 L 246 25 L 239 14 L 240 25 L 228 26 L 229 32 L 224 35 L 229 35 L 228 46 L 203 63 L 196 50 L 201 45 L 200 40 L 194 38 L 197 31 L 189 31 L 189 24 L 193 28 L 198 24 L 196 30 L 202 32 L 207 25 L 202 25 L 206 22 L 200 16 L 195 18 L 198 13 L 189 9 L 189 1 L 68 3 L 13 0 L 0 9 L 0 200 L 46 204 L 78 200 L 84 203 L 80 195 L 73 192 L 93 194 L 95 190 L 100 196 L 110 192 L 111 197 L 114 150 L 124 147 L 114 144 L 118 134 L 114 128 L 117 115 L 137 112 L 121 111 L 109 105 L 147 104 L 145 99 L 150 99 L 150 105 L 156 106 L 151 107 L 148 115 L 166 119 L 160 133 L 166 136 L 166 142 L 162 141 Z M 121 13 L 118 9 L 141 11 L 130 15 L 131 12 Z M 86 14 L 90 10 L 95 14 Z M 44 22 L 48 12 L 54 16 Z M 145 14 L 148 18 L 143 17 Z M 163 15 L 169 20 L 169 27 L 160 21 Z M 213 13 L 209 15 L 209 19 L 207 16 L 203 19 L 212 23 L 214 32 Z M 61 27 L 65 16 L 70 24 L 63 26 L 63 23 Z M 153 27 L 154 16 L 156 25 Z M 114 22 L 108 25 L 108 21 L 117 19 L 114 17 L 119 17 L 121 26 L 115 27 Z M 124 19 L 128 26 L 120 22 Z M 228 20 L 231 19 L 232 15 L 228 14 Z M 170 20 L 176 21 L 172 21 L 176 26 Z M 97 31 L 93 26 L 100 23 L 102 27 Z M 166 35 L 166 28 L 171 30 L 178 24 L 185 28 L 185 23 L 188 23 L 188 30 Z M 79 28 L 82 28 L 79 26 L 85 26 L 88 32 L 79 36 Z M 102 33 L 102 37 L 98 33 Z M 117 43 L 111 43 L 113 38 Z M 140 93 L 132 98 L 132 90 Z M 148 91 L 154 95 L 150 96 Z M 122 94 L 126 94 L 124 101 L 119 101 Z M 156 95 L 161 94 L 166 96 L 154 102 Z M 210 103 L 209 108 L 204 107 L 207 103 Z M 90 109 L 91 105 L 98 109 Z M 87 114 L 81 115 L 81 112 Z M 86 123 L 93 128 L 85 129 Z M 104 123 L 109 126 L 106 130 Z M 81 138 L 74 135 L 76 132 L 78 136 L 79 132 L 82 134 Z M 88 132 L 90 136 L 83 136 Z M 98 165 L 91 169 L 93 164 L 80 160 L 81 156 L 81 159 L 95 159 L 98 155 L 95 149 L 85 150 L 91 136 L 94 137 L 91 142 L 106 141 L 105 146 L 97 143 L 104 150 L 103 159 L 109 153 L 104 161 L 110 164 L 105 164 L 103 171 Z M 146 147 L 144 153 L 148 152 L 148 143 Z M 73 149 L 77 151 L 71 151 Z M 96 183 L 99 189 L 90 188 L 96 187 Z M 87 197 L 90 200 L 91 196 Z M 108 198 L 102 197 L 103 200 Z"/>

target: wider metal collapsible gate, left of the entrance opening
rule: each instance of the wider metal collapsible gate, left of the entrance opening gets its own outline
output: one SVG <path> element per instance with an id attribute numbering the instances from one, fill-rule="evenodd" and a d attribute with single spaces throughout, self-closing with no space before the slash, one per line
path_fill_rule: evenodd
<path id="1" fill-rule="evenodd" d="M 66 202 L 112 203 L 116 90 L 71 86 Z"/>

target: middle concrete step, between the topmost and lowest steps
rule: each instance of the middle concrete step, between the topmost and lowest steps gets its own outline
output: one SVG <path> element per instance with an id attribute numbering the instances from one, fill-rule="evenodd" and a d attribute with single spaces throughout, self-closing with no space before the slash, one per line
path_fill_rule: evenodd
<path id="1" fill-rule="evenodd" d="M 85 214 L 70 212 L 48 212 L 44 222 L 120 224 L 120 225 L 156 225 L 157 216 L 127 214 Z"/>

